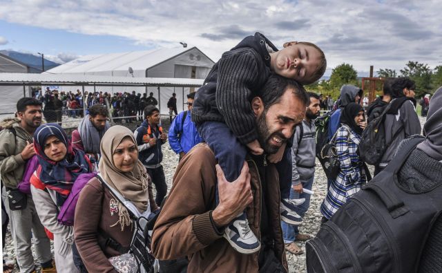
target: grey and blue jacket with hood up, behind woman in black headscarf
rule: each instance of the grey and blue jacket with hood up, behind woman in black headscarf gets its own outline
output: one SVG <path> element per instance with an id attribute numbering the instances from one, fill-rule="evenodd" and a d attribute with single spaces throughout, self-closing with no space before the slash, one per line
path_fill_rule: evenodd
<path id="1" fill-rule="evenodd" d="M 354 102 L 356 99 L 356 95 L 359 95 L 359 97 L 362 97 L 363 90 L 357 86 L 351 85 L 351 84 L 344 84 L 340 88 L 340 95 L 338 99 L 338 109 L 332 113 L 329 120 L 329 131 L 328 131 L 328 138 L 331 140 L 333 138 L 334 133 L 338 131 L 339 128 L 339 120 L 340 120 L 340 111 L 347 106 L 350 102 Z"/>

